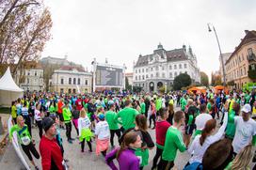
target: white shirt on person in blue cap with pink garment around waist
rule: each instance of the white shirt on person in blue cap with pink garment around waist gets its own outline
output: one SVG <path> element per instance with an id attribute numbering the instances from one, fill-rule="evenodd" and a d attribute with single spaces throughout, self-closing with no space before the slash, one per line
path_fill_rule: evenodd
<path id="1" fill-rule="evenodd" d="M 100 121 L 96 124 L 95 134 L 98 136 L 98 139 L 108 139 L 110 136 L 109 126 L 106 121 Z"/>

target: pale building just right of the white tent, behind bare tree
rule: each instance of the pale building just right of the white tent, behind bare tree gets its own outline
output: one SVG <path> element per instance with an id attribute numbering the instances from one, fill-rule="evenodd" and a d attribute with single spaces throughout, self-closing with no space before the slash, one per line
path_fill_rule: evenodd
<path id="1" fill-rule="evenodd" d="M 18 70 L 15 75 L 15 83 L 24 90 L 43 91 L 43 69 L 39 63 L 27 61 L 24 70 Z"/>

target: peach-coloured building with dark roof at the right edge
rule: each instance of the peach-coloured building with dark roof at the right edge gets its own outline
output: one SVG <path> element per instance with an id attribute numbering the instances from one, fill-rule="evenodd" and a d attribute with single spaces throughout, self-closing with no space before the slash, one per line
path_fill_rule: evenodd
<path id="1" fill-rule="evenodd" d="M 242 88 L 256 82 L 256 31 L 246 30 L 246 36 L 225 63 L 228 85 Z"/>

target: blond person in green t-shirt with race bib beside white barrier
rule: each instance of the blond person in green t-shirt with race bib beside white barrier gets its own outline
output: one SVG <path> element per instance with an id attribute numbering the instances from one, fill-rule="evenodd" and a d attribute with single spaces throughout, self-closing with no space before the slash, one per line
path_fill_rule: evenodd
<path id="1" fill-rule="evenodd" d="M 24 153 L 26 154 L 27 158 L 35 166 L 35 169 L 39 169 L 36 163 L 33 161 L 31 153 L 36 157 L 36 159 L 40 159 L 40 154 L 37 151 L 36 147 L 33 145 L 33 140 L 31 135 L 28 131 L 27 125 L 24 124 L 24 117 L 18 116 L 17 117 L 17 124 L 12 126 L 9 131 L 9 140 L 12 141 L 14 131 L 17 132 L 17 137 L 19 143 L 21 144 Z"/>

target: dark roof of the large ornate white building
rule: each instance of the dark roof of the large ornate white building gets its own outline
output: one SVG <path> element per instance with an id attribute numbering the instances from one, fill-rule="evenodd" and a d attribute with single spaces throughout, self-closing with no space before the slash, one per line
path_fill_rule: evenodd
<path id="1" fill-rule="evenodd" d="M 170 51 L 166 51 L 164 49 L 160 49 L 160 51 L 164 52 L 167 55 L 168 62 L 173 61 L 181 61 L 188 59 L 188 56 L 184 50 L 184 48 L 181 49 L 174 49 Z M 159 49 L 157 50 L 159 52 Z M 138 56 L 138 59 L 136 61 L 135 67 L 141 67 L 141 66 L 147 66 L 149 64 L 149 61 L 155 54 L 147 54 L 142 56 L 141 54 Z"/>

